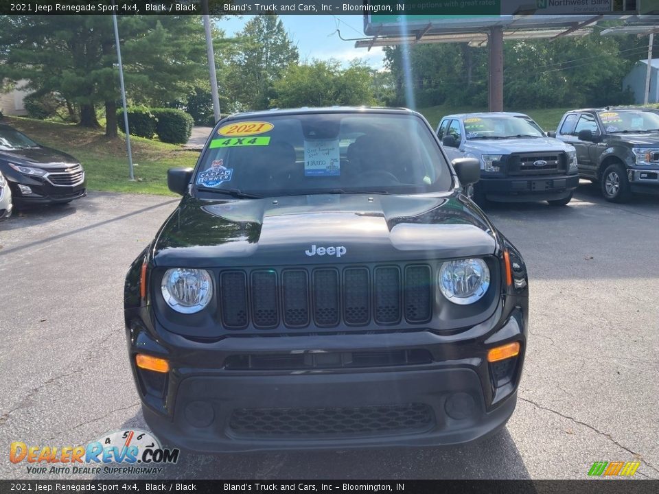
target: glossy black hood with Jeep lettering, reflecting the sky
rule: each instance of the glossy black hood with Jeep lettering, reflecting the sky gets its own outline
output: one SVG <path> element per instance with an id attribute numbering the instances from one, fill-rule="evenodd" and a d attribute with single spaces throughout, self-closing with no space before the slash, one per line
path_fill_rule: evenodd
<path id="1" fill-rule="evenodd" d="M 331 247 L 334 254 L 319 255 L 318 248 Z M 186 196 L 152 252 L 157 266 L 203 268 L 445 259 L 495 250 L 494 226 L 453 193 L 229 201 Z"/>

